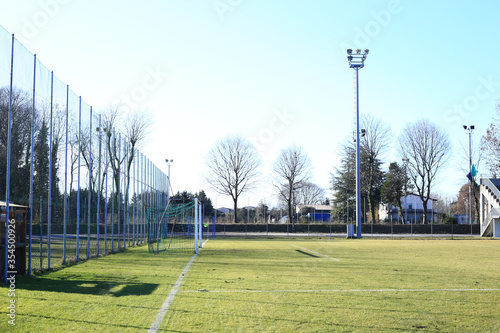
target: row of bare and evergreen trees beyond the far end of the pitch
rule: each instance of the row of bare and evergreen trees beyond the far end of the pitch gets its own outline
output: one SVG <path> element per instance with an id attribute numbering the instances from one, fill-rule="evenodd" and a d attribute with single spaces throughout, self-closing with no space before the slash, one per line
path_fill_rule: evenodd
<path id="1" fill-rule="evenodd" d="M 402 198 L 413 194 L 423 204 L 422 223 L 426 223 L 434 186 L 440 171 L 452 157 L 452 147 L 446 132 L 426 119 L 408 123 L 396 139 L 399 161 L 388 163 L 386 155 L 394 142 L 390 128 L 372 115 L 361 118 L 360 128 L 361 202 L 368 207 L 370 221 L 377 222 L 380 204 L 398 208 L 403 221 Z M 334 167 L 331 173 L 334 220 L 344 221 L 355 214 L 355 137 L 346 138 L 340 144 L 340 165 Z M 496 117 L 481 138 L 479 152 L 479 155 L 474 156 L 475 166 L 485 161 L 488 172 L 493 178 L 497 177 L 500 174 L 500 103 Z M 242 193 L 259 186 L 262 162 L 257 150 L 243 136 L 229 135 L 218 141 L 207 156 L 207 181 L 217 193 L 231 197 L 235 212 L 233 219 L 237 222 L 238 198 Z M 294 216 L 296 204 L 318 204 L 326 197 L 324 189 L 309 181 L 311 169 L 307 153 L 298 145 L 282 149 L 274 161 L 272 185 L 286 206 L 289 217 Z M 479 186 L 475 179 L 473 184 L 474 214 L 477 218 Z"/>

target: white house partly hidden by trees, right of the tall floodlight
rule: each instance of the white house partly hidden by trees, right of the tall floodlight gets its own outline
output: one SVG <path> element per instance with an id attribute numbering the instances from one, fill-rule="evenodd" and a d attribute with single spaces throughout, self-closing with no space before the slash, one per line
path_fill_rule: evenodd
<path id="1" fill-rule="evenodd" d="M 427 201 L 427 218 L 426 221 L 435 221 L 435 216 L 437 211 L 432 208 L 433 201 L 436 199 L 429 198 Z M 416 194 L 408 194 L 401 198 L 401 207 L 403 208 L 403 216 L 406 216 L 406 223 L 418 223 L 422 222 L 422 217 L 424 216 L 424 203 L 420 197 Z M 401 217 L 398 214 L 398 207 L 380 204 L 379 206 L 379 218 L 380 220 L 391 220 L 393 222 L 401 221 Z"/>

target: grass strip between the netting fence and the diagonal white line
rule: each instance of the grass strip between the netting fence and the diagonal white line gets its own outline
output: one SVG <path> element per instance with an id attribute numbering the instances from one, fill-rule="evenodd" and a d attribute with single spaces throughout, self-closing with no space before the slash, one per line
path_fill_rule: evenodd
<path id="1" fill-rule="evenodd" d="M 18 332 L 147 331 L 192 253 L 152 255 L 147 245 L 16 281 Z M 9 302 L 0 288 L 0 304 Z M 12 329 L 6 306 L 0 332 Z"/>

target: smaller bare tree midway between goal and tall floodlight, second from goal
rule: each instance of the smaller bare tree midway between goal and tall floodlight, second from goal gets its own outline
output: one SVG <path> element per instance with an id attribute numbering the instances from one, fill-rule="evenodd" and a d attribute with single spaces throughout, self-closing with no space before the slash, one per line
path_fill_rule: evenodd
<path id="1" fill-rule="evenodd" d="M 274 186 L 279 190 L 280 196 L 288 207 L 288 219 L 292 221 L 292 204 L 294 190 L 307 182 L 311 174 L 311 161 L 299 146 L 291 146 L 281 150 L 278 159 L 274 162 L 274 172 L 277 182 Z"/>

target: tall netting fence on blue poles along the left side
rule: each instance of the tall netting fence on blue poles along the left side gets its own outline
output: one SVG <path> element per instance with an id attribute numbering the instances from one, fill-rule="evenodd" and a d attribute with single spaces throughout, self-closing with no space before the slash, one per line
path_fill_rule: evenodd
<path id="1" fill-rule="evenodd" d="M 2 27 L 0 115 L 0 200 L 28 207 L 29 275 L 145 241 L 167 176 Z"/>

